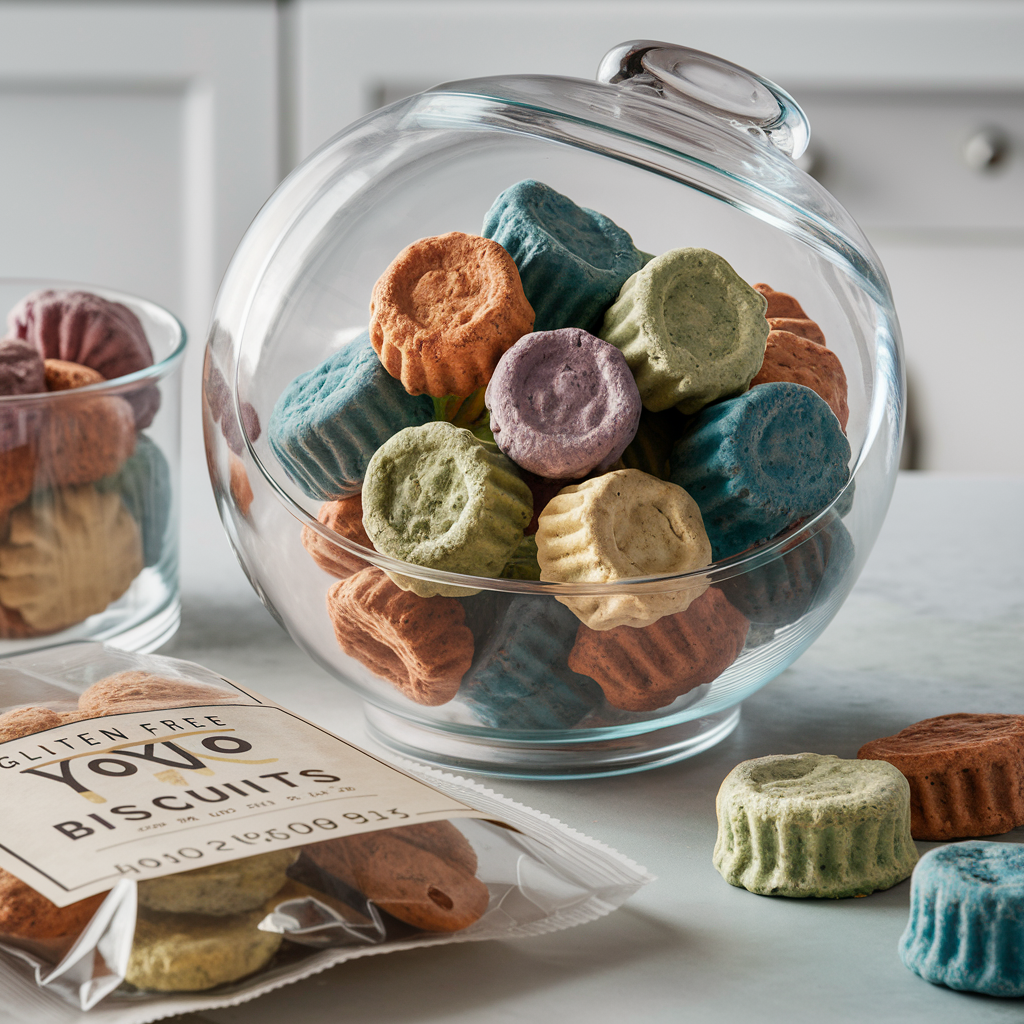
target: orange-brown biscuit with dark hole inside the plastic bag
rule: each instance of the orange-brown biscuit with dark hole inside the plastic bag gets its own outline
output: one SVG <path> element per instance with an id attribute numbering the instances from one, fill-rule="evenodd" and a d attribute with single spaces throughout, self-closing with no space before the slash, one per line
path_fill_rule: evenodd
<path id="1" fill-rule="evenodd" d="M 303 852 L 382 910 L 427 932 L 468 928 L 487 908 L 476 854 L 447 821 L 346 836 Z"/>

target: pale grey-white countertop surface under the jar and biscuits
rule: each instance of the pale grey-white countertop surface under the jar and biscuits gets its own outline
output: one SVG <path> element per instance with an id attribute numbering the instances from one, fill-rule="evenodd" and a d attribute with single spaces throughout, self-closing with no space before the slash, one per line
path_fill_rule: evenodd
<path id="1" fill-rule="evenodd" d="M 722 743 L 639 775 L 494 783 L 657 876 L 621 910 L 536 939 L 356 961 L 186 1020 L 1019 1021 L 1020 999 L 939 988 L 902 966 L 908 882 L 857 900 L 760 897 L 726 885 L 711 853 L 715 794 L 739 761 L 806 750 L 854 757 L 866 740 L 934 715 L 1024 711 L 1022 509 L 1021 478 L 904 474 L 835 622 L 745 701 Z M 234 580 L 213 563 L 203 579 L 186 577 L 182 628 L 163 653 L 369 744 L 358 701 Z M 1024 842 L 1024 828 L 1004 839 Z"/>

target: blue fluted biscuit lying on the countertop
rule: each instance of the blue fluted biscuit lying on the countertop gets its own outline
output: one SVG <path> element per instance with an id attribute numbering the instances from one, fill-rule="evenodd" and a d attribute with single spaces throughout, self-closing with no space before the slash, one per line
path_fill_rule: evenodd
<path id="1" fill-rule="evenodd" d="M 937 985 L 1024 995 L 1024 846 L 974 841 L 926 853 L 899 955 Z"/>

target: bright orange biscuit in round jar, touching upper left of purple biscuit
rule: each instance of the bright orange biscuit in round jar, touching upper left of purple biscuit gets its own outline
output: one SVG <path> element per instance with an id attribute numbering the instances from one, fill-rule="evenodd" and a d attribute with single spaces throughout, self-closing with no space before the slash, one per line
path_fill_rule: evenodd
<path id="1" fill-rule="evenodd" d="M 370 340 L 410 394 L 471 394 L 534 328 L 512 257 L 450 231 L 403 249 L 374 286 Z"/>

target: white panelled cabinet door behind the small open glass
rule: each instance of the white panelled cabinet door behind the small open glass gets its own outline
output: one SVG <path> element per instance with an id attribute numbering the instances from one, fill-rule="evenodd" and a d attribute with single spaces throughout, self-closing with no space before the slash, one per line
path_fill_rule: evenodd
<path id="1" fill-rule="evenodd" d="M 0 4 L 0 275 L 122 289 L 185 324 L 186 577 L 230 559 L 202 452 L 202 347 L 279 177 L 276 24 L 269 0 Z"/>

